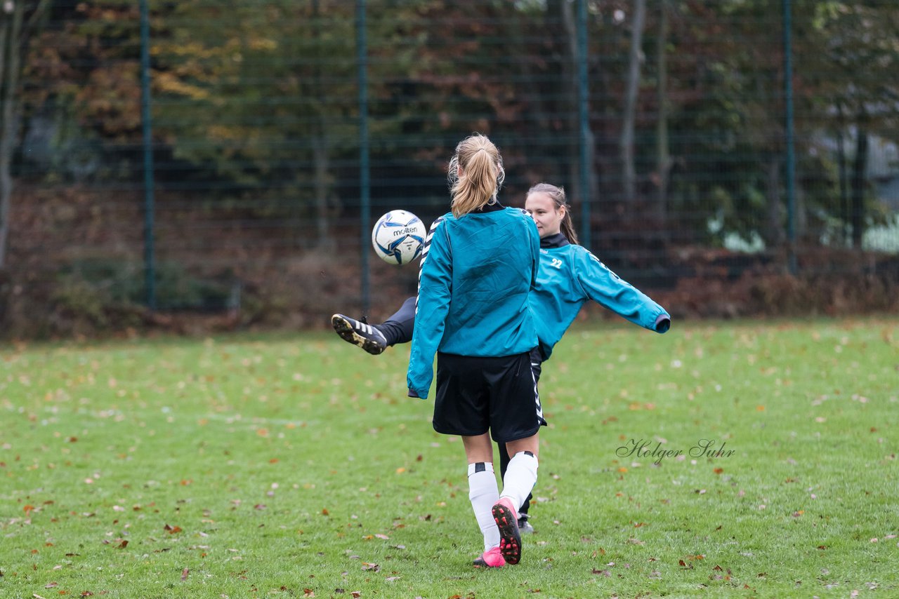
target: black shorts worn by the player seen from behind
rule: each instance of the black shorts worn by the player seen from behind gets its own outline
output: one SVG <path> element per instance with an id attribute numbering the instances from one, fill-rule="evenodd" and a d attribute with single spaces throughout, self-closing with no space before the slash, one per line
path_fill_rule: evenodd
<path id="1" fill-rule="evenodd" d="M 506 357 L 437 354 L 434 430 L 497 443 L 533 436 L 543 419 L 530 353 Z"/>

